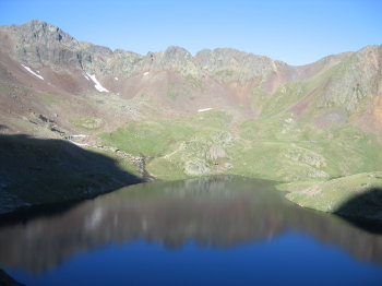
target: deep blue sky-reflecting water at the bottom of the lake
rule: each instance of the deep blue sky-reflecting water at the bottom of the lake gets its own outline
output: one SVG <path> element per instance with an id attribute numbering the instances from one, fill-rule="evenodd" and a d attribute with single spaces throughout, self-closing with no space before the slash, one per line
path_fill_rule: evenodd
<path id="1" fill-rule="evenodd" d="M 27 285 L 382 285 L 382 269 L 299 233 L 229 249 L 136 241 L 76 254 Z"/>

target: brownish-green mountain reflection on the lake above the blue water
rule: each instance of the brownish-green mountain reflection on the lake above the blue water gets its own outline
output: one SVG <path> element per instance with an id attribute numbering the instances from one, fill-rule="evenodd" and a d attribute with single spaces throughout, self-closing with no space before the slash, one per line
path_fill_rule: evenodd
<path id="1" fill-rule="evenodd" d="M 110 243 L 152 241 L 168 249 L 232 248 L 305 233 L 358 260 L 382 264 L 382 237 L 338 217 L 300 208 L 274 182 L 235 176 L 136 184 L 63 214 L 0 228 L 0 265 L 35 274 Z"/>

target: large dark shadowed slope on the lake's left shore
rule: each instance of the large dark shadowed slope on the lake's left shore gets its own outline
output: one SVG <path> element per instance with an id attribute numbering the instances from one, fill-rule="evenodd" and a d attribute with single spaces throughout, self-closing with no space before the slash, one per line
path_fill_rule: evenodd
<path id="1" fill-rule="evenodd" d="M 0 134 L 0 224 L 61 213 L 139 182 L 112 158 L 67 141 Z"/>

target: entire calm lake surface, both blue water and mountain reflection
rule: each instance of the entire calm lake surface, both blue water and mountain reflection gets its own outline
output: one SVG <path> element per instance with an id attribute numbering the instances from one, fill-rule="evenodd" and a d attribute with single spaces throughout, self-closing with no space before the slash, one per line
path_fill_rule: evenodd
<path id="1" fill-rule="evenodd" d="M 382 285 L 382 236 L 287 202 L 268 181 L 132 186 L 0 227 L 26 285 Z"/>

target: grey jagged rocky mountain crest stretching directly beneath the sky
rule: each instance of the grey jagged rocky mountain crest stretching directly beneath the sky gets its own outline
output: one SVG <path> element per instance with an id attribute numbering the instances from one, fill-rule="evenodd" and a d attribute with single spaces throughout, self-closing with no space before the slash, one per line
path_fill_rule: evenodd
<path id="1" fill-rule="evenodd" d="M 20 26 L 2 26 L 0 31 L 1 46 L 21 63 L 36 69 L 49 65 L 56 71 L 81 69 L 102 76 L 131 76 L 140 72 L 174 70 L 195 79 L 217 75 L 226 82 L 244 83 L 250 80 L 260 80 L 286 83 L 308 80 L 354 55 L 358 58 L 354 62 L 358 65 L 355 68 L 365 65 L 366 55 L 362 53 L 371 53 L 370 57 L 374 60 L 372 64 L 379 65 L 381 53 L 381 47 L 367 47 L 356 53 L 329 56 L 311 64 L 291 67 L 267 57 L 235 49 L 201 50 L 195 57 L 180 47 L 169 47 L 165 51 L 150 52 L 145 56 L 123 50 L 111 51 L 107 47 L 76 40 L 59 27 L 38 20 Z M 363 80 L 365 76 L 357 74 L 346 82 L 363 81 L 362 88 L 366 90 L 368 80 L 374 74 Z M 274 91 L 274 88 L 275 86 L 271 90 Z M 375 93 L 375 90 L 370 92 Z"/>

